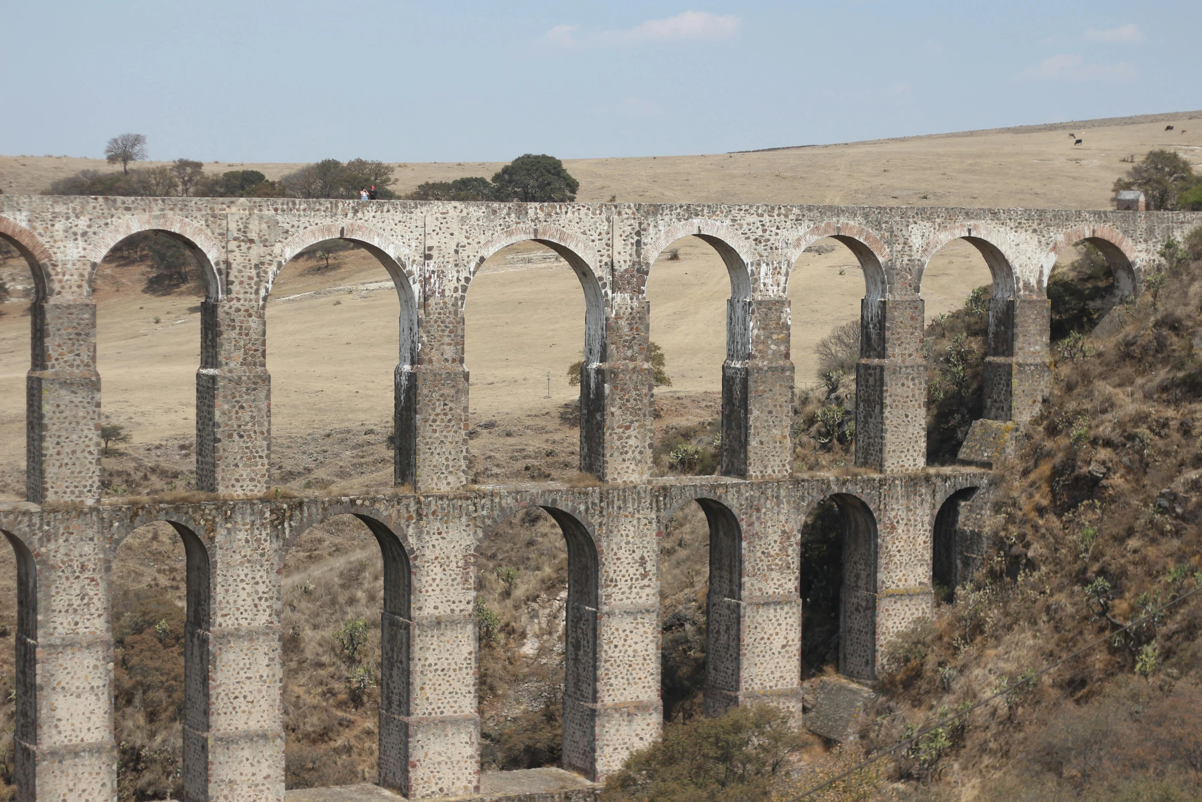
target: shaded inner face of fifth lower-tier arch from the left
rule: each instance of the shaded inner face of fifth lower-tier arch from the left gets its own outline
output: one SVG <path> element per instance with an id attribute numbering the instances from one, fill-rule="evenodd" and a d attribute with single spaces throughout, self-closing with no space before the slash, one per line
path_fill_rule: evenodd
<path id="1" fill-rule="evenodd" d="M 709 524 L 709 592 L 706 594 L 706 713 L 737 707 L 742 689 L 743 528 L 722 500 L 710 495 L 678 499 L 664 518 L 696 501 Z"/>

